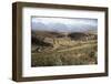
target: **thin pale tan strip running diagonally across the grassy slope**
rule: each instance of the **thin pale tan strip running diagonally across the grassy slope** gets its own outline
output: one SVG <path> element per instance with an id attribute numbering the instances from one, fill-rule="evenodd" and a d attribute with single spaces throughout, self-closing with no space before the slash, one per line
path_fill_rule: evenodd
<path id="1" fill-rule="evenodd" d="M 60 50 L 58 52 L 65 52 L 65 51 L 78 50 L 78 49 L 83 49 L 83 48 L 91 48 L 93 45 L 97 45 L 97 44 L 83 44 L 83 45 L 80 45 L 80 46 L 73 46 L 73 48 L 69 48 L 69 49 L 63 49 L 63 50 Z"/>

